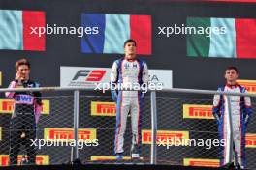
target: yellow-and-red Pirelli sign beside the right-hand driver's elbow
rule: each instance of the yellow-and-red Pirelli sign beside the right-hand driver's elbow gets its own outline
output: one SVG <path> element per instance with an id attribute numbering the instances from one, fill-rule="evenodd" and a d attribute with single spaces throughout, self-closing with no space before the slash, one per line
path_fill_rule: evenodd
<path id="1" fill-rule="evenodd" d="M 183 104 L 184 119 L 214 119 L 212 105 Z"/>

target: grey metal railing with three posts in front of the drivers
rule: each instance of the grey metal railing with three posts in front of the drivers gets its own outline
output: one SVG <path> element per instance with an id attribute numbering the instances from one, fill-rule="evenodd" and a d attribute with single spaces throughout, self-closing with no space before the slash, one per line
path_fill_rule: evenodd
<path id="1" fill-rule="evenodd" d="M 73 91 L 74 92 L 74 139 L 78 141 L 79 138 L 79 112 L 80 112 L 80 91 L 92 91 L 94 88 L 72 88 L 72 87 L 40 87 L 40 88 L 25 88 L 25 89 L 8 89 L 2 88 L 0 92 L 24 92 L 24 91 L 41 91 L 41 92 L 52 92 L 52 91 Z M 230 96 L 247 96 L 247 97 L 256 97 L 256 94 L 250 93 L 234 93 L 234 92 L 217 92 L 213 90 L 197 90 L 197 89 L 164 89 L 161 92 L 169 93 L 184 93 L 184 94 L 199 94 L 199 95 L 226 95 L 228 99 L 228 109 L 230 110 Z M 157 105 L 156 105 L 156 91 L 149 91 L 150 93 L 150 104 L 151 104 L 151 149 L 150 149 L 150 163 L 157 164 Z M 229 116 L 231 113 L 229 112 Z M 232 124 L 230 124 L 232 125 Z M 230 127 L 232 128 L 232 126 Z M 232 130 L 231 130 L 232 133 Z M 232 135 L 232 134 L 231 134 Z M 230 148 L 231 152 L 232 148 Z M 73 148 L 73 157 L 72 161 L 78 159 L 79 151 L 78 145 L 76 144 Z M 229 157 L 232 158 L 232 155 Z"/>

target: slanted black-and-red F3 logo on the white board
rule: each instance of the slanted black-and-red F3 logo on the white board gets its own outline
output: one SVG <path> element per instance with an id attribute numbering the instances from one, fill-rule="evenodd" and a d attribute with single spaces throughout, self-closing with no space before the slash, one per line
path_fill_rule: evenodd
<path id="1" fill-rule="evenodd" d="M 72 81 L 78 80 L 80 77 L 85 77 L 85 81 L 98 82 L 101 81 L 103 76 L 106 74 L 104 70 L 80 70 L 77 71 Z"/>

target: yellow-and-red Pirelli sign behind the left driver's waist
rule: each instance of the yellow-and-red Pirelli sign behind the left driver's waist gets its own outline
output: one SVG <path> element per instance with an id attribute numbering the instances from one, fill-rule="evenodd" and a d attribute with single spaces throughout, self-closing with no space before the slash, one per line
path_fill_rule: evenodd
<path id="1" fill-rule="evenodd" d="M 42 114 L 49 114 L 49 100 L 43 100 Z M 0 113 L 13 113 L 14 100 L 13 99 L 0 99 Z"/>

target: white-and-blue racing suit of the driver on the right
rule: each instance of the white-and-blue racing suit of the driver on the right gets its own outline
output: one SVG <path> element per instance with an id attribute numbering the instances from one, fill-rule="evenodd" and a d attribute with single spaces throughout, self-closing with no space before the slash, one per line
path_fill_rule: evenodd
<path id="1" fill-rule="evenodd" d="M 226 84 L 219 87 L 218 91 L 246 92 L 245 88 L 239 84 L 234 86 Z M 240 168 L 245 168 L 245 132 L 252 113 L 251 100 L 249 97 L 230 96 L 230 101 L 231 120 L 228 119 L 227 97 L 215 95 L 213 99 L 213 116 L 218 121 L 219 140 L 225 139 L 225 145 L 220 147 L 220 166 L 231 163 L 228 161 L 228 156 L 233 152 L 228 152 L 228 149 L 233 148 L 235 150 L 235 163 L 239 163 Z M 228 131 L 231 131 L 229 123 L 232 123 L 233 139 L 228 135 Z M 230 147 L 230 145 L 233 146 Z"/>

